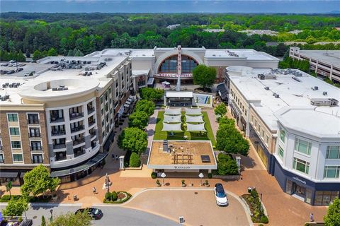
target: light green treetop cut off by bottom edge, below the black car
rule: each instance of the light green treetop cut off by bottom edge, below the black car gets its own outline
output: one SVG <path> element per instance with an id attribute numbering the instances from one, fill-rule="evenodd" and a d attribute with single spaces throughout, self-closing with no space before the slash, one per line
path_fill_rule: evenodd
<path id="1" fill-rule="evenodd" d="M 90 226 L 91 217 L 86 211 L 83 213 L 66 213 L 63 215 L 57 215 L 52 222 L 48 223 L 47 226 Z"/>

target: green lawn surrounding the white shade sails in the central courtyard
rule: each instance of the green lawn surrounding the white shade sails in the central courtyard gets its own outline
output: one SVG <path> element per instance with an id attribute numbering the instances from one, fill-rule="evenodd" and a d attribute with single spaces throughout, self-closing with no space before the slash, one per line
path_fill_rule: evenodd
<path id="1" fill-rule="evenodd" d="M 202 112 L 203 120 L 205 121 L 205 129 L 208 131 L 205 135 L 200 133 L 193 133 L 188 131 L 174 132 L 174 136 L 171 136 L 169 132 L 162 131 L 164 112 L 158 112 L 157 124 L 154 132 L 154 140 L 184 140 L 184 136 L 188 136 L 188 140 L 210 140 L 212 145 L 216 144 L 214 134 L 210 126 L 210 121 L 207 112 Z M 182 120 L 185 112 L 182 112 Z M 182 124 L 183 125 L 183 124 Z M 182 126 L 183 129 L 183 126 Z"/>

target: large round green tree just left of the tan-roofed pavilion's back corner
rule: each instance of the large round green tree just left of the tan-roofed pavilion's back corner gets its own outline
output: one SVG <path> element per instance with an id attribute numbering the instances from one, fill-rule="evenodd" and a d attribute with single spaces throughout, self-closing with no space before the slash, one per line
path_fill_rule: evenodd
<path id="1" fill-rule="evenodd" d="M 118 146 L 141 154 L 147 149 L 147 133 L 135 127 L 125 128 L 118 137 Z"/>

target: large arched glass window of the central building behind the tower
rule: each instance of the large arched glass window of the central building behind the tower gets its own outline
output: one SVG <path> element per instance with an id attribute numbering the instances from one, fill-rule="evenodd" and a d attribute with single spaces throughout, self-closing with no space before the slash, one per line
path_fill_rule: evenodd
<path id="1" fill-rule="evenodd" d="M 193 73 L 198 66 L 193 58 L 182 55 L 182 73 Z M 159 66 L 159 73 L 177 73 L 177 55 L 167 58 Z"/>

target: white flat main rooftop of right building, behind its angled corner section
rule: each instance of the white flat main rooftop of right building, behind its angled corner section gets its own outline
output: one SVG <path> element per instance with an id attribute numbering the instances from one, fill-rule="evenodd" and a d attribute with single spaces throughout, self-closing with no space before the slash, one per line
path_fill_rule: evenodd
<path id="1" fill-rule="evenodd" d="M 232 73 L 232 76 L 229 76 L 232 83 L 237 86 L 237 89 L 240 90 L 246 100 L 251 102 L 251 107 L 256 110 L 268 128 L 273 131 L 278 129 L 278 119 L 274 113 L 283 109 L 283 107 L 311 107 L 315 109 L 314 112 L 317 112 L 317 114 L 311 113 L 317 116 L 318 122 L 314 123 L 316 120 L 312 120 L 311 126 L 311 130 L 314 130 L 315 133 L 324 129 L 322 125 L 329 122 L 329 115 L 333 115 L 333 125 L 339 123 L 339 106 L 315 107 L 310 104 L 310 100 L 312 98 L 334 98 L 340 100 L 340 89 L 307 73 L 295 71 L 302 73 L 302 76 L 297 77 L 300 82 L 292 78 L 293 74 L 273 73 L 273 75 L 276 75 L 276 79 L 260 80 L 258 78 L 257 75 L 260 73 L 271 73 L 270 69 L 253 69 L 251 73 L 247 71 L 242 76 L 234 75 L 234 73 Z M 312 90 L 314 86 L 317 86 L 318 90 Z M 266 87 L 269 90 L 266 90 Z M 323 92 L 327 92 L 327 95 L 323 95 Z M 279 97 L 274 97 L 273 93 L 277 93 Z M 300 113 L 296 111 L 292 111 L 287 115 L 291 116 L 291 114 L 296 114 L 296 118 L 301 117 Z"/>

